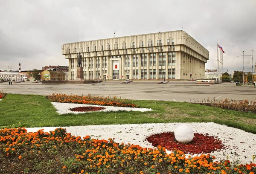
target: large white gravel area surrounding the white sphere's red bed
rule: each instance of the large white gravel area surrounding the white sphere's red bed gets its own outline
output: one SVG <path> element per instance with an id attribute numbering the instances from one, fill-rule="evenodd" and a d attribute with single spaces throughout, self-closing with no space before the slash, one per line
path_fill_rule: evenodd
<path id="1" fill-rule="evenodd" d="M 209 133 L 220 139 L 227 147 L 221 151 L 214 151 L 211 154 L 216 160 L 229 159 L 233 164 L 246 164 L 253 161 L 256 156 L 256 135 L 225 125 L 213 122 L 208 123 L 157 123 L 157 124 L 132 124 L 132 125 L 90 125 L 71 126 L 66 128 L 68 133 L 75 136 L 90 135 L 94 139 L 115 138 L 115 142 L 123 142 L 140 145 L 143 148 L 154 148 L 145 138 L 154 133 L 174 132 L 178 125 L 190 125 L 194 133 Z M 47 128 L 26 128 L 28 132 L 35 132 L 39 129 L 53 131 L 58 127 Z"/>

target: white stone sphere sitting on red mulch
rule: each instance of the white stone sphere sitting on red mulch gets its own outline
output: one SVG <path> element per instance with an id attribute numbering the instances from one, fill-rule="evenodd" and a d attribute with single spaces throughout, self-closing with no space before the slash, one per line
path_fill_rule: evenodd
<path id="1" fill-rule="evenodd" d="M 188 125 L 179 125 L 174 131 L 174 136 L 178 142 L 189 143 L 194 138 L 194 132 Z"/>

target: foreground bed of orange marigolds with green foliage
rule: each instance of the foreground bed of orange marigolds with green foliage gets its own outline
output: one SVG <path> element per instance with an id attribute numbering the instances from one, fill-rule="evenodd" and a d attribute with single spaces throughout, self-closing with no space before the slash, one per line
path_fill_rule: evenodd
<path id="1" fill-rule="evenodd" d="M 254 174 L 256 164 L 231 165 L 229 160 L 214 162 L 201 155 L 186 158 L 182 151 L 166 154 L 166 149 L 142 148 L 72 136 L 63 128 L 45 133 L 27 133 L 25 128 L 0 130 L 0 173 L 104 173 Z"/>

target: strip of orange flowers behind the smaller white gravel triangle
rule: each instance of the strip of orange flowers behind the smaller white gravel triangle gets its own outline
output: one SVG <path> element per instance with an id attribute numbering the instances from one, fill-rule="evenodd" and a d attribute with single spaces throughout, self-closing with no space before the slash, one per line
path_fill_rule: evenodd
<path id="1" fill-rule="evenodd" d="M 96 104 L 103 106 L 119 106 L 119 107 L 138 107 L 136 104 L 132 103 L 132 100 L 105 96 L 78 96 L 78 95 L 66 95 L 66 94 L 52 94 L 48 95 L 47 99 L 51 102 L 61 102 L 61 103 L 78 103 L 78 104 Z"/>

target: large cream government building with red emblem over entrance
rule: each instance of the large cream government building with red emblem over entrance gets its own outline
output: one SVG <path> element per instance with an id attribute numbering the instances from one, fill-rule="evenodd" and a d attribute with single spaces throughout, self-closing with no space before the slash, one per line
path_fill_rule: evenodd
<path id="1" fill-rule="evenodd" d="M 77 77 L 81 52 L 84 79 L 204 79 L 209 51 L 182 30 L 64 44 L 69 80 Z"/>

